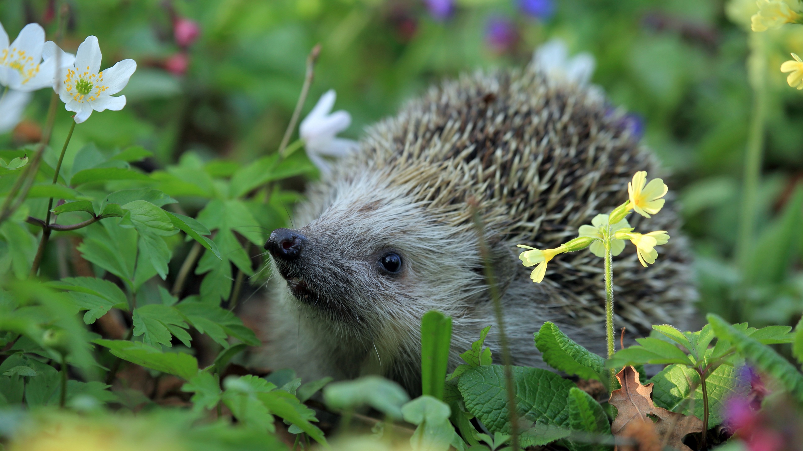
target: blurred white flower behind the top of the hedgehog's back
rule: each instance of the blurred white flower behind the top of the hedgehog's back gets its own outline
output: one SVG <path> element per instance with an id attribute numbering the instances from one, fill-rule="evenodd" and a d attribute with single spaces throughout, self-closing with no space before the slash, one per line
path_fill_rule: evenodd
<path id="1" fill-rule="evenodd" d="M 560 39 L 552 39 L 538 47 L 533 62 L 550 79 L 565 80 L 584 85 L 589 83 L 597 63 L 588 52 L 578 53 L 569 58 L 569 49 Z"/>

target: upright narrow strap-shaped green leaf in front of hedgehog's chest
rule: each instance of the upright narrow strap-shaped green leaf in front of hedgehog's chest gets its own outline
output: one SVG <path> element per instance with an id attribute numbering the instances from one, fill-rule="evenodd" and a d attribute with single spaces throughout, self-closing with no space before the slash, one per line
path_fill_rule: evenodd
<path id="1" fill-rule="evenodd" d="M 428 311 L 421 319 L 422 393 L 438 400 L 443 399 L 450 343 L 451 317 Z"/>

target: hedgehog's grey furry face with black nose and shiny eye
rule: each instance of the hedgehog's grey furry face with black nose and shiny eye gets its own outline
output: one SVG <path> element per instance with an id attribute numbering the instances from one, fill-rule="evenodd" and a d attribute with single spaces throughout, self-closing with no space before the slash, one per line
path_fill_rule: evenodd
<path id="1" fill-rule="evenodd" d="M 317 205 L 307 225 L 275 230 L 265 245 L 308 314 L 417 329 L 426 311 L 465 310 L 483 290 L 475 237 L 454 236 L 404 190 L 343 182 Z"/>

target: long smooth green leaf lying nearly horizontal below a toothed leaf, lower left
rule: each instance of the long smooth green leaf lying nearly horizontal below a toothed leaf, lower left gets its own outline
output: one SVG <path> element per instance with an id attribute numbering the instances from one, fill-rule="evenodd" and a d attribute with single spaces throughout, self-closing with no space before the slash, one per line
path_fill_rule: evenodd
<path id="1" fill-rule="evenodd" d="M 120 339 L 96 339 L 93 343 L 108 347 L 113 355 L 132 364 L 166 372 L 183 380 L 190 380 L 198 374 L 198 360 L 184 352 L 162 352 L 145 343 Z"/>

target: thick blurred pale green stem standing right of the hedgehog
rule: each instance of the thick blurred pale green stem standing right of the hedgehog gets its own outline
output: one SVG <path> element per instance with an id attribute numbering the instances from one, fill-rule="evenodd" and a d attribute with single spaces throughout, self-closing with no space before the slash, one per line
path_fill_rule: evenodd
<path id="1" fill-rule="evenodd" d="M 736 261 L 742 274 L 747 274 L 750 264 L 750 248 L 756 226 L 756 192 L 760 183 L 764 125 L 767 116 L 767 58 L 764 34 L 751 33 L 749 43 L 751 52 L 748 58 L 748 78 L 753 90 L 753 108 L 748 128 L 748 144 L 744 154 L 742 207 L 739 240 L 736 242 Z"/>

